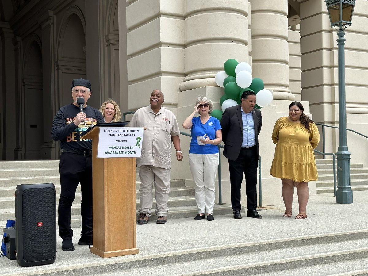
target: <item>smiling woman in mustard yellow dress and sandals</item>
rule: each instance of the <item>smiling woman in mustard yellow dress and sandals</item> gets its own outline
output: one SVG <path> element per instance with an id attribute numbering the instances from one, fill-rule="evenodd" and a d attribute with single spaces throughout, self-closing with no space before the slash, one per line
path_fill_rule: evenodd
<path id="1" fill-rule="evenodd" d="M 307 217 L 308 181 L 318 177 L 313 149 L 318 145 L 319 132 L 313 120 L 303 111 L 300 102 L 292 102 L 289 116 L 279 118 L 272 132 L 276 148 L 270 174 L 282 181 L 284 217 L 291 217 L 294 187 L 297 187 L 299 213 L 296 219 Z"/>

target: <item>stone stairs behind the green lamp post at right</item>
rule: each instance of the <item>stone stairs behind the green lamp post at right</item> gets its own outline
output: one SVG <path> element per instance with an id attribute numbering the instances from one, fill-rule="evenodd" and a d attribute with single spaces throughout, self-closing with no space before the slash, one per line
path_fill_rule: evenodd
<path id="1" fill-rule="evenodd" d="M 318 170 L 317 194 L 333 192 L 333 160 L 324 160 L 322 155 L 316 155 L 316 166 Z M 350 185 L 353 191 L 368 190 L 368 168 L 364 168 L 363 164 L 350 163 Z"/>

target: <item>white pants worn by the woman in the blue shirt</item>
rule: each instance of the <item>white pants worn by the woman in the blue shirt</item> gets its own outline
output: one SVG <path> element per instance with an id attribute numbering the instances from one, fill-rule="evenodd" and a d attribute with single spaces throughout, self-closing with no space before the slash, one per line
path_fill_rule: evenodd
<path id="1" fill-rule="evenodd" d="M 215 204 L 215 181 L 219 154 L 189 153 L 189 166 L 194 181 L 198 213 L 212 214 Z"/>

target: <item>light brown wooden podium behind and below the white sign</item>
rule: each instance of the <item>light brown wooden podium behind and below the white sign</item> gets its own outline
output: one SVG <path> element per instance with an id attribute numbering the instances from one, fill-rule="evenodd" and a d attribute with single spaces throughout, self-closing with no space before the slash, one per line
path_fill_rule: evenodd
<path id="1" fill-rule="evenodd" d="M 93 247 L 102 258 L 138 254 L 135 158 L 97 158 L 99 127 L 82 139 L 92 141 Z"/>

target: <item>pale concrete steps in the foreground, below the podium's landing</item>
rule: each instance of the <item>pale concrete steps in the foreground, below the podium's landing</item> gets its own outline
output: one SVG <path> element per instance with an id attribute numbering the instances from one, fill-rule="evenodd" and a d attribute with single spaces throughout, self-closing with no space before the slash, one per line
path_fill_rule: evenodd
<path id="1" fill-rule="evenodd" d="M 137 226 L 144 227 L 144 226 Z M 368 272 L 368 232 L 331 233 L 162 252 L 141 259 L 63 267 L 59 275 L 356 275 Z M 287 272 L 286 272 L 287 271 Z M 361 274 L 361 273 L 359 273 Z M 29 274 L 30 275 L 30 274 Z"/>

